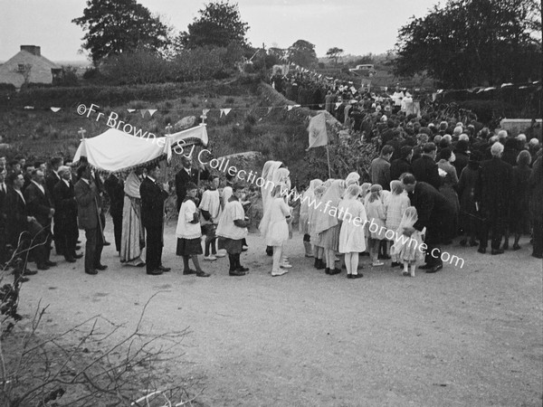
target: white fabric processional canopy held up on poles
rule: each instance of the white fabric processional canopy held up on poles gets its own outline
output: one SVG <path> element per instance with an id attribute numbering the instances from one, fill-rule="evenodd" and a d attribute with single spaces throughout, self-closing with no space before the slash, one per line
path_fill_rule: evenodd
<path id="1" fill-rule="evenodd" d="M 106 171 L 128 171 L 138 166 L 146 166 L 172 156 L 172 148 L 195 140 L 207 146 L 205 125 L 189 128 L 165 137 L 136 137 L 116 128 L 110 128 L 96 137 L 83 138 L 73 162 L 86 156 L 90 166 Z"/>

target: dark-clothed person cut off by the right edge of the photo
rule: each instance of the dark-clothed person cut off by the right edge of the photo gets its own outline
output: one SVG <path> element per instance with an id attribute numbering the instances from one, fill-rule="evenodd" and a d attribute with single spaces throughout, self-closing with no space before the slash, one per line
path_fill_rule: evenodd
<path id="1" fill-rule="evenodd" d="M 534 248 L 532 256 L 541 259 L 543 255 L 543 163 L 541 150 L 529 176 L 529 213 L 534 225 Z"/>

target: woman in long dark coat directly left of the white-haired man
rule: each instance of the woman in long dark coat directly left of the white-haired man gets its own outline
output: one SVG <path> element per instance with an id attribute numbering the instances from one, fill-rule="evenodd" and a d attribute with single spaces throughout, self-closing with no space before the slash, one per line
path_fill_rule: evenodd
<path id="1" fill-rule="evenodd" d="M 470 238 L 470 246 L 477 246 L 477 234 L 479 232 L 479 219 L 475 206 L 475 186 L 479 179 L 479 163 L 481 153 L 477 150 L 472 152 L 468 166 L 462 170 L 458 183 L 458 195 L 460 197 L 460 227 L 463 238 L 460 241 L 462 246 L 467 244 Z"/>

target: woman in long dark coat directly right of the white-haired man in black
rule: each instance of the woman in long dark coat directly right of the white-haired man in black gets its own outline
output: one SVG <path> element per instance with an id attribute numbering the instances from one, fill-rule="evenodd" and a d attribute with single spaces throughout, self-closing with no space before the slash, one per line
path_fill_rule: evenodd
<path id="1" fill-rule="evenodd" d="M 520 249 L 520 234 L 529 229 L 529 176 L 531 175 L 531 156 L 524 150 L 517 156 L 517 166 L 513 167 L 513 202 L 510 209 L 510 232 L 515 233 L 513 250 Z"/>

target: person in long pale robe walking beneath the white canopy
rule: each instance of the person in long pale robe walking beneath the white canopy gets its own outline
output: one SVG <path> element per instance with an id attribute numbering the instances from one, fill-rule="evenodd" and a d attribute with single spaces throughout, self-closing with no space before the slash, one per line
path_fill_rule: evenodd
<path id="1" fill-rule="evenodd" d="M 139 185 L 142 169 L 132 171 L 124 185 L 120 261 L 129 266 L 145 266 L 145 232 L 141 226 L 141 195 Z"/>

